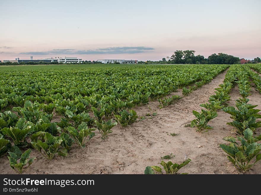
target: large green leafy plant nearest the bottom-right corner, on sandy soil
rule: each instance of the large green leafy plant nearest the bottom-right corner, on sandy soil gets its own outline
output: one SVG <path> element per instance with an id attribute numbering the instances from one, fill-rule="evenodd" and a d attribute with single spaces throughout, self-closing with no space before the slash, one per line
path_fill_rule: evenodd
<path id="1" fill-rule="evenodd" d="M 238 144 L 234 137 L 224 137 L 223 139 L 230 142 L 230 145 L 220 144 L 220 148 L 227 153 L 227 159 L 238 171 L 246 172 L 261 159 L 259 153 L 261 144 L 257 143 L 261 140 L 261 135 L 253 137 L 251 129 L 248 128 L 244 131 L 244 137 L 237 137 L 241 144 Z M 253 162 L 254 157 L 256 160 Z"/>

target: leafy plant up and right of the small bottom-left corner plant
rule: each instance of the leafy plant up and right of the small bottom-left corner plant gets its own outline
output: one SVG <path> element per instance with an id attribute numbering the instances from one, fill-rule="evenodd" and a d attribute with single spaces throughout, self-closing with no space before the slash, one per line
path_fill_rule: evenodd
<path id="1" fill-rule="evenodd" d="M 50 133 L 44 133 L 44 142 L 38 139 L 36 142 L 31 142 L 33 147 L 38 150 L 44 158 L 52 159 L 56 153 L 61 156 L 67 156 L 67 150 L 62 148 L 63 139 L 61 137 L 52 136 Z"/>

